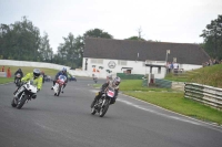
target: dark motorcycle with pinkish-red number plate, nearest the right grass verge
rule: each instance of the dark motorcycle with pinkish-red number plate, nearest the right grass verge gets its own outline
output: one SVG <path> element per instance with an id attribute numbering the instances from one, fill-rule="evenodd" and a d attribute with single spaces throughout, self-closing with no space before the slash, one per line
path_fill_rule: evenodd
<path id="1" fill-rule="evenodd" d="M 112 98 L 114 98 L 114 88 L 110 86 L 107 87 L 105 91 L 102 92 L 102 96 L 95 102 L 92 102 L 91 114 L 94 115 L 95 113 L 99 113 L 99 116 L 103 117 L 109 109 L 110 102 L 112 101 Z"/>

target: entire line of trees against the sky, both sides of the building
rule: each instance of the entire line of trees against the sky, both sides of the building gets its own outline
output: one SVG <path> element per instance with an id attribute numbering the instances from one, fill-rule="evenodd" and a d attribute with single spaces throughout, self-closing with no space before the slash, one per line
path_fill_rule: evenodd
<path id="1" fill-rule="evenodd" d="M 53 53 L 48 33 L 44 32 L 41 36 L 40 30 L 27 17 L 22 17 L 21 21 L 12 24 L 1 23 L 0 59 L 50 62 L 73 69 L 81 67 L 87 36 L 113 39 L 113 35 L 100 29 L 88 30 L 83 35 L 78 36 L 70 32 L 68 36 L 63 36 L 57 53 Z M 201 45 L 206 53 L 213 59 L 222 60 L 222 15 L 218 15 L 218 19 L 206 24 L 200 36 L 204 39 Z M 141 29 L 138 36 L 125 40 L 147 41 L 141 38 Z"/>

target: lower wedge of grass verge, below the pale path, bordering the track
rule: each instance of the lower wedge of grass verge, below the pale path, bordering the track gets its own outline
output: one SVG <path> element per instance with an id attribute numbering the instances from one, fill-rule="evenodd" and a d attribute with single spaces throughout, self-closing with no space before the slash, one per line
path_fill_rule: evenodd
<path id="1" fill-rule="evenodd" d="M 222 125 L 222 112 L 184 98 L 182 92 L 123 92 L 144 102 L 161 106 L 175 113 L 205 122 Z"/>

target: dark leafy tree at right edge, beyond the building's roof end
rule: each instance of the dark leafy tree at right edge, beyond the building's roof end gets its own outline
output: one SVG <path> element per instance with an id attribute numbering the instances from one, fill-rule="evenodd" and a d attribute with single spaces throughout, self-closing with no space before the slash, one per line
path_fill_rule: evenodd
<path id="1" fill-rule="evenodd" d="M 218 19 L 206 24 L 206 29 L 200 36 L 204 39 L 203 48 L 209 55 L 214 59 L 222 59 L 222 15 L 219 14 Z"/>

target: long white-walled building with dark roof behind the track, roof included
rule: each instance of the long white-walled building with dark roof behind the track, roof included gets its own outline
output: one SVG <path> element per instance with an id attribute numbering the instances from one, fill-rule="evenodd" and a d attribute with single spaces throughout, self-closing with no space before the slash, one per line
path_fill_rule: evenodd
<path id="1" fill-rule="evenodd" d="M 147 42 L 87 38 L 82 70 L 107 77 L 110 74 L 149 74 L 163 78 L 167 62 L 176 62 L 184 71 L 202 67 L 210 56 L 198 44 Z"/>

